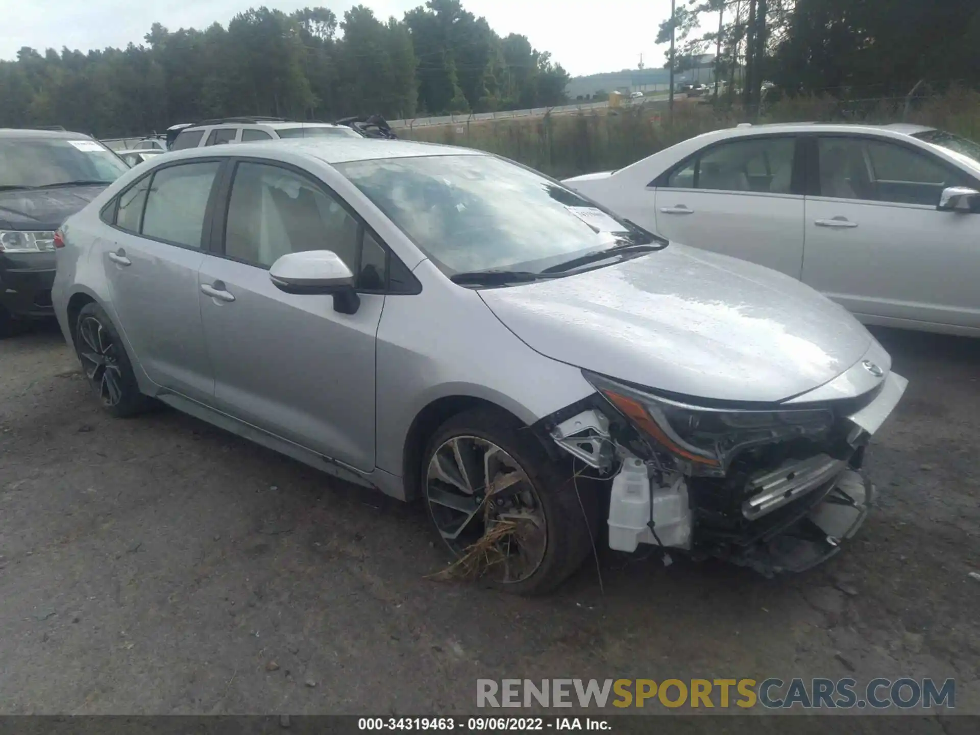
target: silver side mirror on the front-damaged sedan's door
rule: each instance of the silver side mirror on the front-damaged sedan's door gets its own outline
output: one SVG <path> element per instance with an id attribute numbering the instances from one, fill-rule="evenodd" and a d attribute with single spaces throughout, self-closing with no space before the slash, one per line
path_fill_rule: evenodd
<path id="1" fill-rule="evenodd" d="M 361 306 L 354 273 L 332 250 L 287 253 L 272 264 L 269 277 L 286 293 L 332 295 L 333 309 L 341 314 L 355 314 Z"/>

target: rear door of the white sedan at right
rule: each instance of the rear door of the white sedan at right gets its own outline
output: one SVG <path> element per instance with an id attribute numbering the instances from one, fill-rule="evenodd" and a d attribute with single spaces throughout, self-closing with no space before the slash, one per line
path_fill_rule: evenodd
<path id="1" fill-rule="evenodd" d="M 803 176 L 794 135 L 725 140 L 653 183 L 657 230 L 671 240 L 799 278 Z"/>

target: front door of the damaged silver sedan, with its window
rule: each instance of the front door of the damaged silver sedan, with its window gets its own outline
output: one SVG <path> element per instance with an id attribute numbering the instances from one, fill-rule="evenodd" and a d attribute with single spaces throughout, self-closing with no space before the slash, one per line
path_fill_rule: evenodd
<path id="1" fill-rule="evenodd" d="M 240 161 L 223 232 L 200 270 L 200 310 L 221 411 L 334 461 L 374 467 L 375 337 L 385 302 L 386 249 L 306 172 Z M 286 253 L 332 250 L 359 274 L 361 306 L 288 294 L 269 277 Z M 392 256 L 393 257 L 393 256 Z M 217 297 L 214 294 L 219 294 Z"/>

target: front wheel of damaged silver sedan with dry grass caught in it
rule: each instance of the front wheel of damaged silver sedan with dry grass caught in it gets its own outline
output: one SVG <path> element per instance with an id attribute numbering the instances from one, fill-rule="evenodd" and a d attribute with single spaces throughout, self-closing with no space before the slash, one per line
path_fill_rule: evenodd
<path id="1" fill-rule="evenodd" d="M 551 460 L 503 412 L 475 409 L 440 426 L 422 458 L 421 485 L 450 552 L 460 559 L 478 548 L 479 571 L 506 591 L 549 592 L 592 551 L 594 487 L 574 482 L 570 461 Z"/>

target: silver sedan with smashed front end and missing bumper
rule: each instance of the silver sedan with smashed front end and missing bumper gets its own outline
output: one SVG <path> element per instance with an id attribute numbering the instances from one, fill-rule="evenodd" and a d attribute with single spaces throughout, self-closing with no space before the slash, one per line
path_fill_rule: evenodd
<path id="1" fill-rule="evenodd" d="M 421 498 L 521 593 L 597 540 L 817 564 L 863 520 L 864 448 L 906 387 L 793 278 L 466 149 L 172 153 L 58 244 L 58 319 L 111 414 L 156 399 Z"/>

